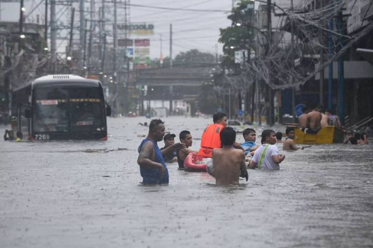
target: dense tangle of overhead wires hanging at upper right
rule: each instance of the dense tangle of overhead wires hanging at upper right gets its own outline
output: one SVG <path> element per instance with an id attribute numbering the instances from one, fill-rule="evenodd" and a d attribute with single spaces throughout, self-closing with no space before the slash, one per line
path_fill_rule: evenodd
<path id="1" fill-rule="evenodd" d="M 272 43 L 267 53 L 258 54 L 251 64 L 245 64 L 251 74 L 256 74 L 272 89 L 303 85 L 373 29 L 373 23 L 368 23 L 354 36 L 345 35 L 356 23 L 350 21 L 343 25 L 336 21 L 336 17 L 350 4 L 348 0 L 330 2 L 325 7 L 316 6 L 316 10 L 306 10 L 305 3 L 303 1 L 297 10 L 284 12 L 278 26 L 272 28 Z M 293 43 L 290 42 L 291 23 L 294 27 Z M 323 54 L 322 59 L 320 54 Z"/>

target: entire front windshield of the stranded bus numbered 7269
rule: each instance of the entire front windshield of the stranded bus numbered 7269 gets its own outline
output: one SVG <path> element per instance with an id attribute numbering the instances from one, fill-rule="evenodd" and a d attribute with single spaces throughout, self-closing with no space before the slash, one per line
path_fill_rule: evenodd
<path id="1" fill-rule="evenodd" d="M 105 130 L 105 106 L 99 88 L 38 88 L 34 93 L 35 131 Z"/>

